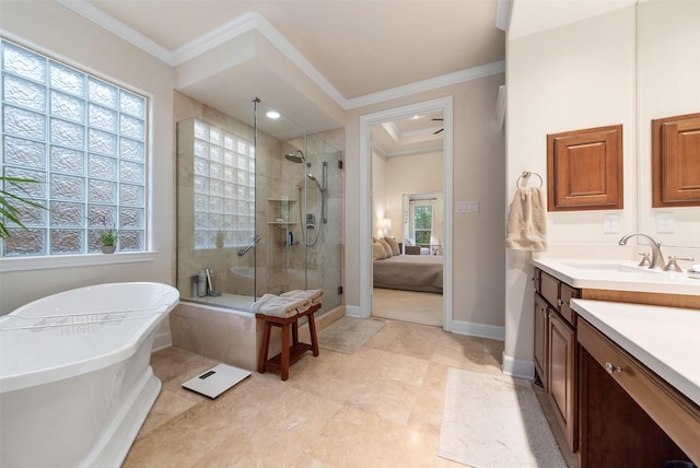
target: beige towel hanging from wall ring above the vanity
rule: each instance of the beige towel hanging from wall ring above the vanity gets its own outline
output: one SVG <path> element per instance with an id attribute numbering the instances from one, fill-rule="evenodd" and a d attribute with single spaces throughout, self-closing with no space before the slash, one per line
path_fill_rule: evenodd
<path id="1" fill-rule="evenodd" d="M 540 187 L 518 187 L 508 213 L 505 247 L 547 250 L 547 206 Z"/>

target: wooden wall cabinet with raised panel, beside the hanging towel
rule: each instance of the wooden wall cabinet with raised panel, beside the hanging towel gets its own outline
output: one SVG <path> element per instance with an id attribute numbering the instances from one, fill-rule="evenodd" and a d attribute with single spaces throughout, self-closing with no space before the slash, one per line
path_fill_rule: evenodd
<path id="1" fill-rule="evenodd" d="M 549 211 L 623 208 L 622 126 L 547 136 Z"/>

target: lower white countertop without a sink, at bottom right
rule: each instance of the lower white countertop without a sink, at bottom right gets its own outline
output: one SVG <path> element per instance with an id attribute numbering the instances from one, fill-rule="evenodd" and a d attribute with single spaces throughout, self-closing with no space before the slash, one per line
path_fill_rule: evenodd
<path id="1" fill-rule="evenodd" d="M 700 406 L 700 311 L 582 299 L 571 308 Z"/>

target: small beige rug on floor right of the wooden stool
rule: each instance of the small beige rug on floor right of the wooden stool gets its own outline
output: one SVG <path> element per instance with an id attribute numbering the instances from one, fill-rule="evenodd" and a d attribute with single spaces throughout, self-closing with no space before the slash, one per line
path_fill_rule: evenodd
<path id="1" fill-rule="evenodd" d="M 352 354 L 384 327 L 383 321 L 345 316 L 318 332 L 320 348 Z"/>

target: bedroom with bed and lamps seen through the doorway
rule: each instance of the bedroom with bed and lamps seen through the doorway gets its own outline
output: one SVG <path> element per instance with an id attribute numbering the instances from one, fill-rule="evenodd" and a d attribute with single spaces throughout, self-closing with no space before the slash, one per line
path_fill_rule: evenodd
<path id="1" fill-rule="evenodd" d="M 443 326 L 443 122 L 435 110 L 371 127 L 374 316 Z"/>

